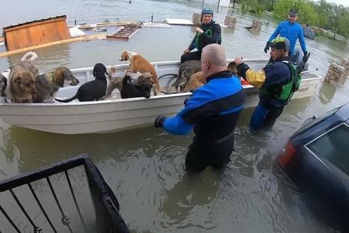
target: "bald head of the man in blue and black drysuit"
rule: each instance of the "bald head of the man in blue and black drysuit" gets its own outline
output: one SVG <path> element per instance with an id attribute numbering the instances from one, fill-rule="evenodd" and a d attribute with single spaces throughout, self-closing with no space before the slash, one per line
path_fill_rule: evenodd
<path id="1" fill-rule="evenodd" d="M 202 49 L 201 68 L 205 77 L 227 69 L 225 51 L 219 44 L 209 44 Z"/>

